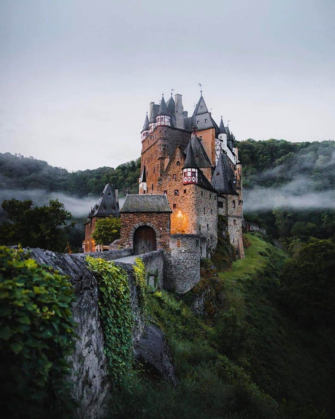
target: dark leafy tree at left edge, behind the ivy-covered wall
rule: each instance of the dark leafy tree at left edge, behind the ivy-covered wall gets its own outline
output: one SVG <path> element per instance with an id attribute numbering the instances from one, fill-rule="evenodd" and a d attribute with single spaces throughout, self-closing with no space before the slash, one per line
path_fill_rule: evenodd
<path id="1" fill-rule="evenodd" d="M 3 209 L 9 221 L 0 226 L 0 243 L 7 246 L 21 243 L 23 247 L 40 247 L 64 251 L 67 233 L 74 227 L 72 215 L 58 199 L 50 199 L 49 206 L 32 207 L 30 199 L 5 200 Z"/>

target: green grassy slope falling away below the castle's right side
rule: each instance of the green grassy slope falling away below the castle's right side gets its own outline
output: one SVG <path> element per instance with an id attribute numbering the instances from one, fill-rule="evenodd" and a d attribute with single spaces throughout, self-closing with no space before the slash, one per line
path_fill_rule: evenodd
<path id="1" fill-rule="evenodd" d="M 301 406 L 327 406 L 330 366 L 317 356 L 320 348 L 310 348 L 310 334 L 292 326 L 275 303 L 286 256 L 257 235 L 248 237 L 246 259 L 219 273 L 224 304 L 213 326 L 167 292 L 149 297 L 179 385 L 138 374 L 124 385 L 117 417 L 322 417 Z"/>

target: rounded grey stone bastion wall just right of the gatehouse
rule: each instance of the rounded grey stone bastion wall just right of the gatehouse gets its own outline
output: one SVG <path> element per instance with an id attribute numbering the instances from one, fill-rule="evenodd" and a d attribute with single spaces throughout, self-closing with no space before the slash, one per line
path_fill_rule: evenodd
<path id="1" fill-rule="evenodd" d="M 163 287 L 181 294 L 200 280 L 201 237 L 195 234 L 171 234 L 165 251 Z"/>

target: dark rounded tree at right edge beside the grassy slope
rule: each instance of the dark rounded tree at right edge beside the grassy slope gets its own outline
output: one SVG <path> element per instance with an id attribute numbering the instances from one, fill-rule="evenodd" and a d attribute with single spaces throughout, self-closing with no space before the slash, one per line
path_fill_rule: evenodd
<path id="1" fill-rule="evenodd" d="M 307 324 L 335 321 L 335 244 L 311 238 L 288 259 L 281 276 L 282 301 Z"/>

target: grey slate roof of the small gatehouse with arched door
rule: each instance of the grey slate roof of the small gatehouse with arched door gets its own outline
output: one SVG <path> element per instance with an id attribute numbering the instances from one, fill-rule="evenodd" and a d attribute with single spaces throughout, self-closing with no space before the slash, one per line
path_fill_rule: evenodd
<path id="1" fill-rule="evenodd" d="M 128 212 L 172 212 L 165 194 L 127 195 L 120 210 Z"/>

